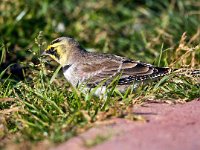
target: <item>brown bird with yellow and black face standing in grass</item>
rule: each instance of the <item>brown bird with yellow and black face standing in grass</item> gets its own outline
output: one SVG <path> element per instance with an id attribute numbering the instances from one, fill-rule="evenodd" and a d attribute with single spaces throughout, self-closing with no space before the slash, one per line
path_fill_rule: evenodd
<path id="1" fill-rule="evenodd" d="M 57 61 L 67 81 L 82 92 L 97 87 L 95 95 L 105 94 L 106 88 L 117 77 L 116 89 L 125 92 L 128 87 L 158 80 L 169 74 L 168 67 L 156 67 L 122 56 L 86 51 L 75 39 L 59 37 L 42 53 Z M 101 85 L 101 86 L 99 86 Z"/>

